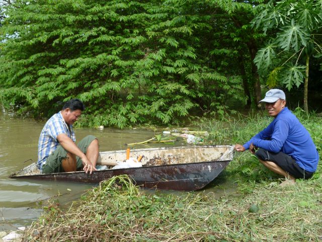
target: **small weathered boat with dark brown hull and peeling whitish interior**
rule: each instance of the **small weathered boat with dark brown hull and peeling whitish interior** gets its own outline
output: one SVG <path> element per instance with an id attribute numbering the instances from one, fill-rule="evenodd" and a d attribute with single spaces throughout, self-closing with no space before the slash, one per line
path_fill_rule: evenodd
<path id="1" fill-rule="evenodd" d="M 125 161 L 126 151 L 100 152 L 98 165 L 104 169 L 93 171 L 41 174 L 34 162 L 14 173 L 10 178 L 63 180 L 78 183 L 100 183 L 115 175 L 129 175 L 137 186 L 147 189 L 195 191 L 204 188 L 232 160 L 233 146 L 181 146 L 131 150 L 131 157 L 142 156 L 141 167 L 112 169 L 116 161 Z"/>

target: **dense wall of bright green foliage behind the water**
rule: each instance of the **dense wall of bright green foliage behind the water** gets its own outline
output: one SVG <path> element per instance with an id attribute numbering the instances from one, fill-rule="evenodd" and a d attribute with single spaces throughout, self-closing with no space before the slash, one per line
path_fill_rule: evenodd
<path id="1" fill-rule="evenodd" d="M 253 59 L 274 33 L 252 27 L 263 0 L 5 2 L 0 100 L 20 113 L 48 117 L 76 97 L 83 125 L 123 128 L 261 98 Z"/>

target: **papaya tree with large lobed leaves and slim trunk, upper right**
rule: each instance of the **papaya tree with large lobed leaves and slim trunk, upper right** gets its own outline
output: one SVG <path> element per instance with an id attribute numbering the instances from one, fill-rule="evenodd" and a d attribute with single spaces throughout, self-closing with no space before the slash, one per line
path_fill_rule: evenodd
<path id="1" fill-rule="evenodd" d="M 288 90 L 304 82 L 304 110 L 308 112 L 307 89 L 311 57 L 321 56 L 321 2 L 314 0 L 269 2 L 261 5 L 253 20 L 269 37 L 255 63 L 267 85 Z M 314 56 L 315 55 L 315 56 Z"/>

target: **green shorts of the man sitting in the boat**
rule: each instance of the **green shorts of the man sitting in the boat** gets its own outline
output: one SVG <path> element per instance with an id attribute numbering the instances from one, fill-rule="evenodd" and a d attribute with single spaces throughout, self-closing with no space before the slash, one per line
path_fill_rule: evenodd
<path id="1" fill-rule="evenodd" d="M 78 148 L 83 151 L 84 154 L 87 152 L 87 148 L 95 140 L 96 137 L 93 135 L 86 136 L 83 140 L 79 141 Z M 58 145 L 53 153 L 51 153 L 47 159 L 46 163 L 42 166 L 42 173 L 56 173 L 56 172 L 64 172 L 64 169 L 61 166 L 61 161 L 67 157 L 67 151 L 62 148 L 62 146 Z M 82 170 L 83 163 L 82 159 L 76 156 L 77 160 L 77 170 Z"/>

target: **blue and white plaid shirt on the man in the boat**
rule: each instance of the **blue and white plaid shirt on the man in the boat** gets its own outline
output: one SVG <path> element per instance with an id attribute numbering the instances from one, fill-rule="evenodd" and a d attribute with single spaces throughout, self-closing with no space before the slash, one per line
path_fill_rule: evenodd
<path id="1" fill-rule="evenodd" d="M 60 111 L 49 118 L 44 128 L 42 129 L 38 142 L 38 168 L 42 170 L 42 165 L 46 163 L 46 158 L 54 152 L 59 142 L 57 136 L 60 134 L 67 135 L 73 142 L 76 141 L 75 133 L 72 130 L 72 125 L 65 123 Z"/>

